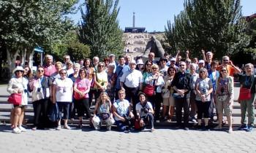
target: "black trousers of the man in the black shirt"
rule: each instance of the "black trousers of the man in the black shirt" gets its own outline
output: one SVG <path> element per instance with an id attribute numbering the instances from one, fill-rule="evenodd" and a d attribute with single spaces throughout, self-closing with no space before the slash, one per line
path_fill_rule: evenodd
<path id="1" fill-rule="evenodd" d="M 184 98 L 174 98 L 176 106 L 176 120 L 178 126 L 181 126 L 182 108 L 184 109 L 184 127 L 189 125 L 189 101 L 186 96 Z"/>

